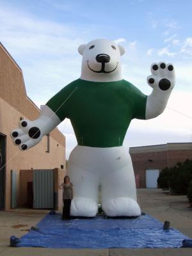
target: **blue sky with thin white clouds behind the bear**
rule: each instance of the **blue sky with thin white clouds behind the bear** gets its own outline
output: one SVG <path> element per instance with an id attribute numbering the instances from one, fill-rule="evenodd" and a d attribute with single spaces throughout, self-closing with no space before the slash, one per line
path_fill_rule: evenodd
<path id="1" fill-rule="evenodd" d="M 167 108 L 152 120 L 132 120 L 124 147 L 191 142 L 191 10 L 190 0 L 0 0 L 0 41 L 22 68 L 38 107 L 80 77 L 77 48 L 96 38 L 124 46 L 123 77 L 147 95 L 151 63 L 173 63 L 176 83 Z M 68 158 L 77 145 L 70 120 L 59 129 Z"/>

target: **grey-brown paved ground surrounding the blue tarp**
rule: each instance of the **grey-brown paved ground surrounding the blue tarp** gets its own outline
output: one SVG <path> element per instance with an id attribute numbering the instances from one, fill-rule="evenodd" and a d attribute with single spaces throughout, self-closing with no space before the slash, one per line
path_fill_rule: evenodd
<path id="1" fill-rule="evenodd" d="M 142 211 L 177 228 L 186 236 L 192 237 L 192 208 L 186 196 L 169 195 L 161 189 L 138 189 Z M 10 236 L 23 236 L 31 226 L 35 226 L 49 211 L 15 209 L 0 211 L 0 255 L 191 255 L 192 248 L 174 249 L 48 249 L 48 248 L 11 248 Z"/>

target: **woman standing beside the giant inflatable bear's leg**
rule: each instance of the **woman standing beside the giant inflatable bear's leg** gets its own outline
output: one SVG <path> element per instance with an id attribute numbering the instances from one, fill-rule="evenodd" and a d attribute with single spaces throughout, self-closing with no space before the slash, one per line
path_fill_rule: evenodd
<path id="1" fill-rule="evenodd" d="M 70 178 L 66 175 L 63 182 L 63 214 L 62 220 L 70 219 L 70 204 L 73 198 L 73 185 Z"/>

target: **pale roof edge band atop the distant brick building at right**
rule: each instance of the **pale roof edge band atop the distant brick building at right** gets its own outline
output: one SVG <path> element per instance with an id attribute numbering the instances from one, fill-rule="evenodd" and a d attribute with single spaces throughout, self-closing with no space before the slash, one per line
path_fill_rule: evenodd
<path id="1" fill-rule="evenodd" d="M 150 152 L 166 152 L 171 150 L 192 150 L 191 142 L 166 143 L 161 145 L 149 145 L 143 147 L 130 147 L 130 154 L 142 154 Z"/>

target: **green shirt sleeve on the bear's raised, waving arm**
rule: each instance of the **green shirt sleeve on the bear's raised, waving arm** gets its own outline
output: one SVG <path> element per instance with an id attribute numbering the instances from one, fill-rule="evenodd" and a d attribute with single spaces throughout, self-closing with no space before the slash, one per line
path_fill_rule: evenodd
<path id="1" fill-rule="evenodd" d="M 129 89 L 132 95 L 132 118 L 146 119 L 145 111 L 147 104 L 147 95 L 143 94 L 138 88 L 130 83 Z"/>

